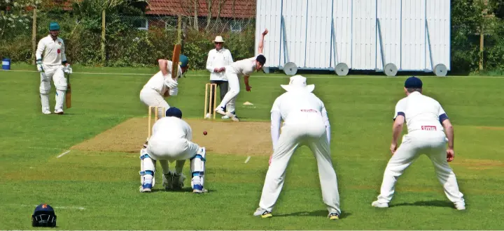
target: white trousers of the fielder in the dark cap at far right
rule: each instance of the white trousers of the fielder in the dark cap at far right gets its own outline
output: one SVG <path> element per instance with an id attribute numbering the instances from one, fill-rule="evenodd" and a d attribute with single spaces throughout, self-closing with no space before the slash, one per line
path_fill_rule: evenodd
<path id="1" fill-rule="evenodd" d="M 463 194 L 458 191 L 455 174 L 447 162 L 446 144 L 446 135 L 442 131 L 413 131 L 404 135 L 400 147 L 385 168 L 378 202 L 390 202 L 395 181 L 416 158 L 421 154 L 426 154 L 434 165 L 437 179 L 444 188 L 444 194 L 451 202 L 464 205 Z"/>

